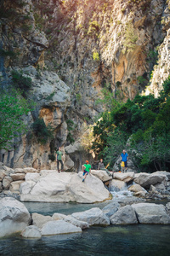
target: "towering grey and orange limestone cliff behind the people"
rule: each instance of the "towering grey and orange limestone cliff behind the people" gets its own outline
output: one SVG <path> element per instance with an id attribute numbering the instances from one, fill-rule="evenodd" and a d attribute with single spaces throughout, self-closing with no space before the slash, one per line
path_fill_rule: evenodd
<path id="1" fill-rule="evenodd" d="M 123 101 L 146 85 L 146 93 L 157 95 L 169 75 L 168 0 L 3 0 L 0 5 L 1 87 L 10 84 L 12 70 L 31 77 L 29 97 L 37 107 L 26 124 L 31 127 L 39 117 L 54 128 L 54 139 L 45 146 L 28 134 L 20 137 L 12 152 L 1 154 L 7 165 L 51 168 L 48 154 L 69 145 L 70 120 L 77 140 L 102 110 L 96 105 L 102 88 Z M 81 164 L 77 160 L 77 169 Z"/>

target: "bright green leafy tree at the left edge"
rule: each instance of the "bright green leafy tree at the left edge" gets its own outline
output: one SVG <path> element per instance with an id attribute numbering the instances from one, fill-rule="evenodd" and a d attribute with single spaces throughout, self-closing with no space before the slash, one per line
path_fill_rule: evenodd
<path id="1" fill-rule="evenodd" d="M 10 148 L 14 137 L 26 132 L 23 115 L 31 108 L 20 93 L 13 90 L 10 94 L 0 94 L 0 149 Z"/>

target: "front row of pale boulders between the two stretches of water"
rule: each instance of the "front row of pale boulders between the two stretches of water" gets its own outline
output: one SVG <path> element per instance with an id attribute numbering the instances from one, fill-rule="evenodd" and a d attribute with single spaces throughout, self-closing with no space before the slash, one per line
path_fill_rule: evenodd
<path id="1" fill-rule="evenodd" d="M 102 210 L 93 207 L 88 211 L 71 215 L 55 212 L 53 216 L 30 214 L 26 207 L 14 198 L 0 200 L 0 237 L 20 232 L 26 238 L 79 233 L 93 225 L 110 224 L 170 224 L 170 203 L 166 207 L 154 203 L 134 203 L 121 207 L 111 202 Z"/>

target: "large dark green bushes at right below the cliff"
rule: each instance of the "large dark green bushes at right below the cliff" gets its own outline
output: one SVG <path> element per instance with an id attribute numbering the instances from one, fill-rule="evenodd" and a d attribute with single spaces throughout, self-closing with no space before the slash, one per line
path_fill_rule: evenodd
<path id="1" fill-rule="evenodd" d="M 127 148 L 139 171 L 170 169 L 170 77 L 160 96 L 135 96 L 126 103 L 114 101 L 94 126 L 93 148 L 113 166 Z M 111 99 L 110 99 L 111 100 Z"/>

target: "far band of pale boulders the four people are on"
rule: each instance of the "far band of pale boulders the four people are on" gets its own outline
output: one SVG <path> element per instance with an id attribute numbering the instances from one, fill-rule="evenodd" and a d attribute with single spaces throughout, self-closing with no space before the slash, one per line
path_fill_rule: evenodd
<path id="1" fill-rule="evenodd" d="M 111 199 L 111 191 L 131 191 L 144 199 L 170 200 L 170 173 L 111 172 L 92 170 L 82 183 L 82 172 L 35 168 L 11 169 L 0 165 L 0 196 L 20 201 L 94 203 Z"/>

